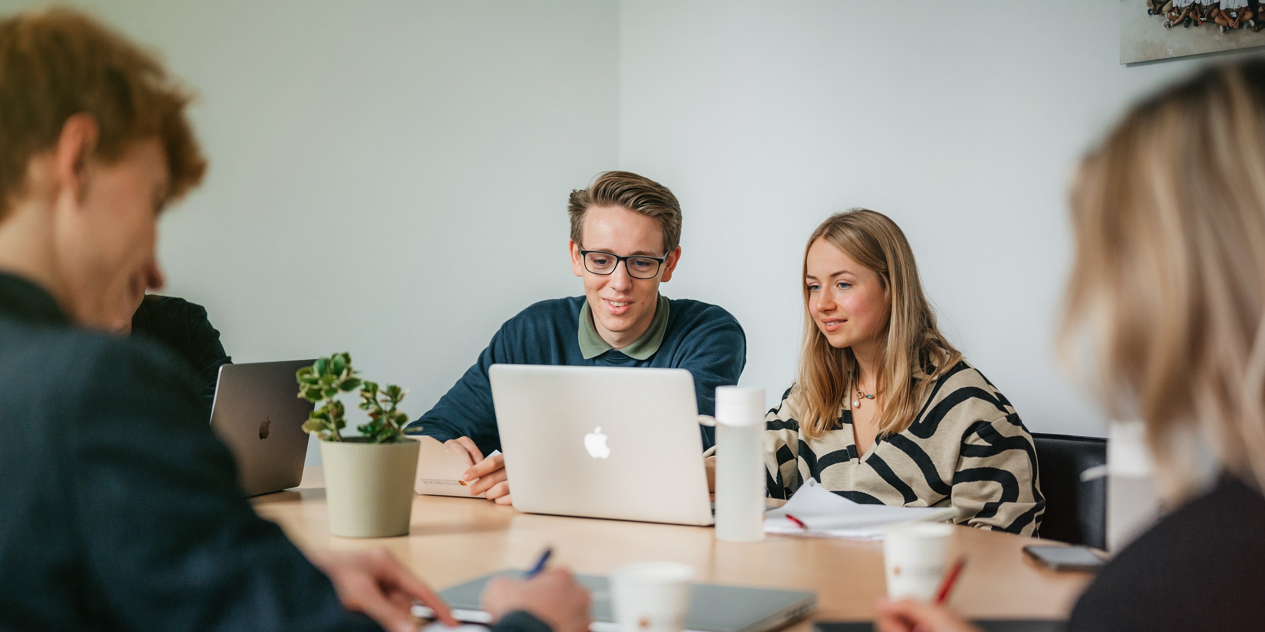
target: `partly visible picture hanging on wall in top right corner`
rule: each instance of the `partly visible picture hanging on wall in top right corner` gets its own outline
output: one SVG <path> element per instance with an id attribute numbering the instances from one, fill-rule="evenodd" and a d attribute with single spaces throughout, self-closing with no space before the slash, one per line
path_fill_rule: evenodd
<path id="1" fill-rule="evenodd" d="M 1265 46 L 1265 0 L 1120 0 L 1120 63 Z"/>

